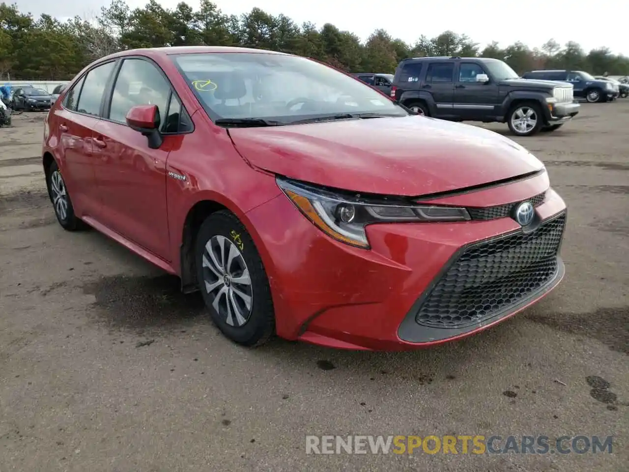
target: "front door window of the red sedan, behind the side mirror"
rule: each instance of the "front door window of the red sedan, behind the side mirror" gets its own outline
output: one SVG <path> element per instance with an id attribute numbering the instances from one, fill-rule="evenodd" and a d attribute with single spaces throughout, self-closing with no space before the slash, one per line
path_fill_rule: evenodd
<path id="1" fill-rule="evenodd" d="M 126 114 L 137 105 L 157 105 L 164 123 L 170 84 L 155 65 L 143 59 L 125 59 L 114 84 L 109 120 L 126 123 Z"/>

